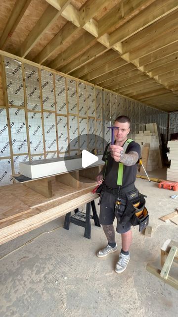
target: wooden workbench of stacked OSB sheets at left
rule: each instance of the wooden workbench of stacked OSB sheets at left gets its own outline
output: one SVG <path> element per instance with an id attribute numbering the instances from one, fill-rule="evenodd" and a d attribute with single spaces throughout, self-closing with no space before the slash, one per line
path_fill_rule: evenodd
<path id="1" fill-rule="evenodd" d="M 0 187 L 0 245 L 73 211 L 98 197 L 96 183 L 80 176 L 78 188 L 51 178 L 53 196 L 47 198 L 24 184 Z"/>

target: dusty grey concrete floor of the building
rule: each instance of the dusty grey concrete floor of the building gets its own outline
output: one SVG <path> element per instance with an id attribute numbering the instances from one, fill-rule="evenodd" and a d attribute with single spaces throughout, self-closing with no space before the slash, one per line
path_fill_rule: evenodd
<path id="1" fill-rule="evenodd" d="M 178 291 L 146 270 L 148 262 L 160 268 L 168 238 L 178 241 L 178 226 L 159 220 L 178 207 L 178 199 L 157 183 L 137 179 L 136 187 L 148 196 L 154 231 L 150 238 L 133 228 L 125 272 L 114 272 L 119 251 L 96 257 L 106 239 L 93 220 L 89 240 L 82 227 L 63 229 L 61 217 L 0 246 L 0 317 L 178 316 Z M 116 241 L 120 248 L 118 234 Z M 170 274 L 178 278 L 178 264 Z"/>

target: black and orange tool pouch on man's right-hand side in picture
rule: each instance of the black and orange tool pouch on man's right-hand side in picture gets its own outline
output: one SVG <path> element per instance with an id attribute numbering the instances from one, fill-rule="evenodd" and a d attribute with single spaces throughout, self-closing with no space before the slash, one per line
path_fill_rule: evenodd
<path id="1" fill-rule="evenodd" d="M 140 204 L 135 208 L 135 212 L 131 218 L 133 226 L 139 225 L 139 232 L 141 232 L 149 223 L 149 214 L 145 207 L 145 199 L 140 195 Z"/>

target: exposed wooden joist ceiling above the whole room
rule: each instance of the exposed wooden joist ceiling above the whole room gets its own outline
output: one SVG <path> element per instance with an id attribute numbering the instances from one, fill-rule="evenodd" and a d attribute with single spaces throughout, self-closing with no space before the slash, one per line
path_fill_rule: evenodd
<path id="1" fill-rule="evenodd" d="M 13 1 L 21 2 L 21 9 L 18 6 L 20 24 L 23 12 L 32 10 L 33 3 Z M 35 1 L 32 2 L 35 4 Z M 145 98 L 155 106 L 154 101 L 162 94 L 173 100 L 171 106 L 178 104 L 177 0 L 38 2 L 41 5 L 39 20 L 36 15 L 36 24 L 32 23 L 32 28 L 28 28 L 29 33 L 26 32 L 20 47 L 18 45 L 16 52 L 10 52 L 23 57 L 28 55 L 37 63 L 128 97 L 134 96 L 141 102 L 147 96 Z M 15 6 L 11 16 L 14 12 Z M 13 26 L 12 17 L 6 22 L 10 19 L 6 25 L 14 30 L 18 23 Z M 53 30 L 57 23 L 59 26 Z M 1 32 L 0 40 L 4 32 Z M 7 33 L 4 48 L 9 39 Z M 38 46 L 40 49 L 36 53 Z"/>

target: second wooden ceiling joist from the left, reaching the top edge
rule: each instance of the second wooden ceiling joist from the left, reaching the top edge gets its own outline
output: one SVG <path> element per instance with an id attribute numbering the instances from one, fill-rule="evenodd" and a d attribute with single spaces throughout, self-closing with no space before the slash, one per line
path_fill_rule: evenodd
<path id="1" fill-rule="evenodd" d="M 65 5 L 58 11 L 51 5 L 47 7 L 41 18 L 38 20 L 32 31 L 29 33 L 20 49 L 17 51 L 17 55 L 25 57 L 30 50 L 35 46 L 41 36 L 46 30 L 54 23 L 54 21 L 61 15 L 61 12 L 68 5 L 69 0 L 65 1 Z"/>

